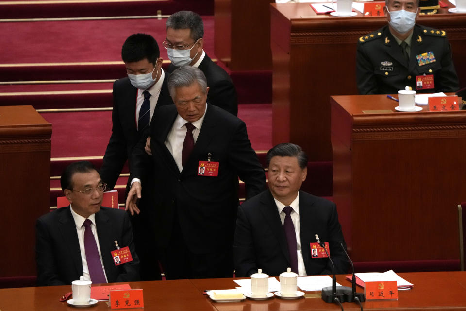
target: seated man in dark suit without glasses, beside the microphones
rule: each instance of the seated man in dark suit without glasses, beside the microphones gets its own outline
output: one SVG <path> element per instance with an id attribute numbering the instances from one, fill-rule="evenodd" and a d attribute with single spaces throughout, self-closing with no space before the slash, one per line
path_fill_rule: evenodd
<path id="1" fill-rule="evenodd" d="M 307 155 L 291 143 L 278 144 L 267 153 L 268 186 L 238 207 L 233 244 L 236 276 L 262 269 L 278 276 L 287 267 L 300 276 L 331 274 L 331 263 L 312 256 L 321 242 L 329 243 L 336 273 L 346 273 L 349 262 L 333 202 L 300 191 L 307 174 Z"/>

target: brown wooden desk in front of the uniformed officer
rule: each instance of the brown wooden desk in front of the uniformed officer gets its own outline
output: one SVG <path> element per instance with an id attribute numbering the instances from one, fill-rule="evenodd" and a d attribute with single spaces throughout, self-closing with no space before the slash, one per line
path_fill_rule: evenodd
<path id="1" fill-rule="evenodd" d="M 466 111 L 332 96 L 333 200 L 354 261 L 459 258 Z"/>

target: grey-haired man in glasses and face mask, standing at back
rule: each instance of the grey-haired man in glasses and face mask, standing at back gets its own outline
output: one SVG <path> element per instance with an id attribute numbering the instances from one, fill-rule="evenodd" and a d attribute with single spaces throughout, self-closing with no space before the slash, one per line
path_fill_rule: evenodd
<path id="1" fill-rule="evenodd" d="M 209 104 L 218 106 L 238 114 L 238 99 L 232 79 L 228 73 L 215 64 L 204 52 L 204 23 L 202 18 L 191 11 L 180 11 L 172 14 L 166 21 L 166 39 L 163 42 L 171 65 L 172 72 L 182 66 L 197 67 L 205 75 L 209 94 Z"/>

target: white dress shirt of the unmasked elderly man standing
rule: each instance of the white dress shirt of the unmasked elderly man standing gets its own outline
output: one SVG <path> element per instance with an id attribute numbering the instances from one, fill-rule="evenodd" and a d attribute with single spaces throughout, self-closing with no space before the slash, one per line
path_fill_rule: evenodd
<path id="1" fill-rule="evenodd" d="M 196 143 L 200 128 L 202 127 L 202 122 L 204 121 L 205 113 L 207 111 L 207 103 L 205 104 L 205 111 L 202 117 L 196 122 L 193 122 L 195 129 L 193 130 L 193 137 L 194 143 Z M 165 145 L 170 154 L 173 156 L 176 165 L 180 172 L 183 171 L 183 164 L 182 164 L 182 153 L 183 153 L 183 142 L 184 138 L 186 137 L 186 126 L 184 124 L 188 123 L 188 121 L 184 120 L 180 115 L 176 116 L 175 122 L 173 122 L 173 126 L 168 132 L 168 135 L 165 140 Z"/>

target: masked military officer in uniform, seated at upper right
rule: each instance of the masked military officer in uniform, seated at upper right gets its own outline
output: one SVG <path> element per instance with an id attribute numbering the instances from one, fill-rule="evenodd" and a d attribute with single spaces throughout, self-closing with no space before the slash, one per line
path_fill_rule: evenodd
<path id="1" fill-rule="evenodd" d="M 458 77 L 445 31 L 416 24 L 419 0 L 386 0 L 388 25 L 359 38 L 356 77 L 361 94 L 455 92 Z M 418 88 L 417 82 L 422 81 Z"/>

